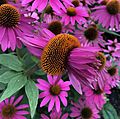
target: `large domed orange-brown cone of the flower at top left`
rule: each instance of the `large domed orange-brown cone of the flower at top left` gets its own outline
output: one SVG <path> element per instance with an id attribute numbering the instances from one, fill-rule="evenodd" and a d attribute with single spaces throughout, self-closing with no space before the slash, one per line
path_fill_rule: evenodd
<path id="1" fill-rule="evenodd" d="M 4 27 L 14 27 L 20 20 L 20 14 L 16 7 L 10 4 L 0 6 L 0 25 Z"/>

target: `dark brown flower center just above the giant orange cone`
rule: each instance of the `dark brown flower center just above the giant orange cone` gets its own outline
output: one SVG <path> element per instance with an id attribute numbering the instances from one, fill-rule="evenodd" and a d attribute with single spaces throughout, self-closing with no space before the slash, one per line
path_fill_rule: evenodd
<path id="1" fill-rule="evenodd" d="M 53 21 L 49 24 L 48 29 L 55 35 L 58 35 L 62 32 L 62 24 L 60 21 Z"/>

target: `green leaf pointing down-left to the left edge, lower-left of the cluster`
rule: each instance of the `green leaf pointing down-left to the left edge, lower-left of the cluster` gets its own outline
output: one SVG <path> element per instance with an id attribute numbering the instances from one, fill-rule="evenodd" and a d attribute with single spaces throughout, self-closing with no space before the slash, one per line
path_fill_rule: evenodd
<path id="1" fill-rule="evenodd" d="M 19 91 L 26 84 L 26 82 L 27 77 L 22 74 L 13 77 L 8 83 L 7 89 L 3 92 L 3 95 L 0 98 L 0 102 Z"/>

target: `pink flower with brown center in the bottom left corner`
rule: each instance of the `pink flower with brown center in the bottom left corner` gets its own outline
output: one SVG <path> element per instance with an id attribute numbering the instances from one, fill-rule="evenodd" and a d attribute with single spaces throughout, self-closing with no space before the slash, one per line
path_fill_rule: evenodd
<path id="1" fill-rule="evenodd" d="M 25 111 L 25 108 L 29 106 L 27 104 L 18 105 L 23 96 L 18 97 L 15 100 L 15 97 L 6 99 L 0 103 L 0 119 L 27 119 L 24 115 L 29 114 L 28 111 Z"/>

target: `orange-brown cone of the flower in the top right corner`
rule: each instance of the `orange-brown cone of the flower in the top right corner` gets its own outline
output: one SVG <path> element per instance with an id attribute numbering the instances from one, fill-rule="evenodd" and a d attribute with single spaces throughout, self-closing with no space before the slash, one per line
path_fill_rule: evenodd
<path id="1" fill-rule="evenodd" d="M 107 4 L 107 11 L 111 15 L 116 15 L 120 13 L 120 1 L 118 0 L 110 0 Z"/>

